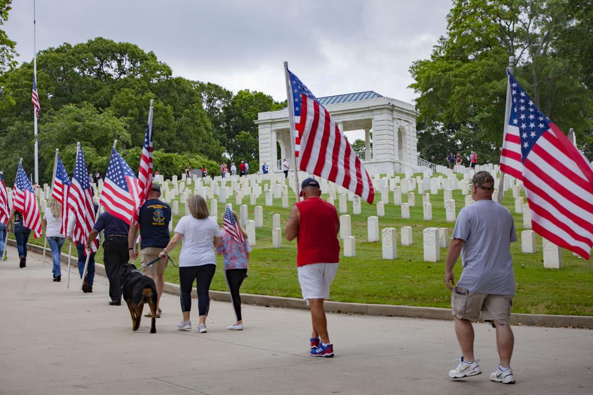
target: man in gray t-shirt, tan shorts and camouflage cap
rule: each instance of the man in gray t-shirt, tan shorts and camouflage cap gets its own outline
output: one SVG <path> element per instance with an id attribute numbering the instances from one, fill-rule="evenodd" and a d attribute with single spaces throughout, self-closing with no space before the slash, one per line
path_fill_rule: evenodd
<path id="1" fill-rule="evenodd" d="M 472 180 L 474 203 L 461 209 L 447 251 L 445 284 L 453 291 L 452 314 L 455 333 L 461 346 L 461 362 L 449 377 L 462 378 L 482 373 L 474 358 L 472 320 L 482 313 L 484 321 L 496 328 L 496 346 L 500 364 L 490 380 L 514 383 L 511 355 L 514 337 L 509 326 L 512 298 L 515 295 L 515 274 L 511 243 L 517 241 L 513 217 L 509 210 L 492 201 L 494 178 L 477 172 Z M 453 266 L 461 253 L 463 272 L 455 285 Z"/>

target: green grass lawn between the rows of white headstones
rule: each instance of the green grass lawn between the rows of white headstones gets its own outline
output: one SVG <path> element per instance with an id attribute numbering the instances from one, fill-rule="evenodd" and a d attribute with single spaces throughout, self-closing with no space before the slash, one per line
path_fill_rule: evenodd
<path id="1" fill-rule="evenodd" d="M 458 175 L 460 178 L 461 176 Z M 403 178 L 403 175 L 400 175 Z M 192 185 L 193 188 L 193 185 Z M 262 188 L 263 189 L 263 188 Z M 323 198 L 329 197 L 324 195 Z M 295 201 L 294 192 L 289 190 L 289 198 Z M 461 191 L 454 191 L 457 213 L 464 207 Z M 375 195 L 375 202 L 381 195 Z M 407 197 L 403 196 L 403 201 Z M 527 201 L 527 200 L 525 200 Z M 235 197 L 228 200 L 235 205 Z M 243 204 L 249 203 L 249 197 L 243 198 Z M 331 300 L 357 303 L 398 304 L 406 306 L 449 307 L 450 291 L 444 284 L 444 266 L 447 249 L 441 249 L 441 261 L 423 262 L 422 230 L 424 227 L 448 227 L 449 236 L 454 223 L 445 221 L 443 193 L 431 195 L 432 216 L 430 222 L 423 221 L 422 196 L 416 194 L 416 206 L 410 207 L 410 219 L 400 219 L 400 207 L 393 205 L 393 193 L 390 204 L 385 205 L 385 216 L 379 218 L 380 229 L 395 227 L 398 229 L 398 258 L 393 261 L 382 260 L 381 243 L 366 242 L 366 219 L 377 215 L 375 205 L 362 203 L 362 213 L 352 215 L 352 202 L 348 210 L 352 216 L 352 235 L 356 237 L 356 258 L 340 256 L 340 269 L 331 286 Z M 515 227 L 520 239 L 523 228 L 522 214 L 514 214 L 512 191 L 505 193 L 503 204 L 513 213 Z M 266 207 L 264 193 L 257 200 L 263 206 L 264 227 L 256 229 L 257 245 L 251 253 L 249 278 L 243 283 L 243 293 L 263 294 L 283 297 L 301 297 L 297 280 L 296 241 L 283 240 L 283 247 L 272 248 L 272 214 L 280 214 L 282 226 L 288 219 L 289 208 L 282 208 L 280 199 L 274 200 L 272 207 Z M 337 205 L 337 196 L 336 196 Z M 183 204 L 180 214 L 183 215 Z M 222 221 L 224 204 L 218 204 L 218 220 Z M 248 205 L 248 216 L 253 219 L 254 207 Z M 177 223 L 180 216 L 174 217 Z M 412 226 L 413 246 L 400 245 L 402 226 Z M 31 242 L 42 244 L 41 240 Z M 593 314 L 593 271 L 591 261 L 584 261 L 563 251 L 564 268 L 560 270 L 544 269 L 541 249 L 541 237 L 537 236 L 538 251 L 535 254 L 521 253 L 521 242 L 512 243 L 517 296 L 514 300 L 515 313 L 536 314 Z M 65 245 L 64 251 L 67 250 Z M 178 247 L 171 258 L 177 262 Z M 103 260 L 103 249 L 97 253 L 97 262 Z M 222 258 L 219 257 L 218 272 L 212 282 L 212 290 L 227 290 L 222 272 Z M 136 261 L 138 263 L 138 260 Z M 461 261 L 455 266 L 455 277 L 461 273 Z M 165 272 L 166 281 L 178 283 L 178 271 L 171 265 Z"/>

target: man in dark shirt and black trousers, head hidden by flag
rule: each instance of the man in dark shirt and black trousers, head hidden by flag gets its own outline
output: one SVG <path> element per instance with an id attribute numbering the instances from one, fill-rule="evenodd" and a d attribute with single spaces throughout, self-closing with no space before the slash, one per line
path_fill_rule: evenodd
<path id="1" fill-rule="evenodd" d="M 91 230 L 87 239 L 87 250 L 91 249 L 91 242 L 97 237 L 98 233 L 103 231 L 105 241 L 103 242 L 103 263 L 105 273 L 109 278 L 109 296 L 111 306 L 122 304 L 122 284 L 119 275 L 119 269 L 130 259 L 127 252 L 127 233 L 130 226 L 125 221 L 120 220 L 111 214 L 102 213 Z"/>

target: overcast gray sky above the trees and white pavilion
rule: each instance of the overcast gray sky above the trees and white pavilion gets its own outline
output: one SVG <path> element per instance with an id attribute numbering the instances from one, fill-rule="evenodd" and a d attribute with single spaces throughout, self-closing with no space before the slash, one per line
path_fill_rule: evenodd
<path id="1" fill-rule="evenodd" d="M 282 62 L 318 97 L 373 90 L 411 102 L 408 72 L 445 33 L 450 0 L 37 0 L 37 50 L 97 36 L 152 50 L 174 75 L 286 98 Z M 33 57 L 33 0 L 8 36 Z"/>

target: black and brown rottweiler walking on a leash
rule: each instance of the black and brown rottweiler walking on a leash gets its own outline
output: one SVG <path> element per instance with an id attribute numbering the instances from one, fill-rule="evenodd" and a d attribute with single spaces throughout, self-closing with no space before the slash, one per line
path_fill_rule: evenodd
<path id="1" fill-rule="evenodd" d="M 150 333 L 157 333 L 157 327 L 155 327 L 157 287 L 152 278 L 135 270 L 136 266 L 132 264 L 123 264 L 119 270 L 122 278 L 123 300 L 126 301 L 127 308 L 130 309 L 130 315 L 132 316 L 132 330 L 138 330 L 140 327 L 142 309 L 144 309 L 144 304 L 148 303 L 152 313 Z"/>

